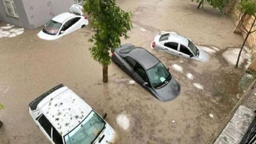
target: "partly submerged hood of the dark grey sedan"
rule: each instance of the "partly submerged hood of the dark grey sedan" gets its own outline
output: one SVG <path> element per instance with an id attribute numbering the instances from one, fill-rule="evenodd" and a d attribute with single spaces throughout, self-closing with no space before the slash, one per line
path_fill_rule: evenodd
<path id="1" fill-rule="evenodd" d="M 176 98 L 181 90 L 180 84 L 172 78 L 165 86 L 155 89 L 161 101 L 168 101 Z"/>

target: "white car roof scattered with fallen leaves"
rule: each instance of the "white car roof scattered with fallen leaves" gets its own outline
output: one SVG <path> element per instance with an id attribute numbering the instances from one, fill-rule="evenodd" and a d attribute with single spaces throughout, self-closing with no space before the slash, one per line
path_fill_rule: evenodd
<path id="1" fill-rule="evenodd" d="M 91 111 L 92 108 L 70 89 L 63 91 L 41 108 L 41 112 L 60 135 L 72 131 Z"/>

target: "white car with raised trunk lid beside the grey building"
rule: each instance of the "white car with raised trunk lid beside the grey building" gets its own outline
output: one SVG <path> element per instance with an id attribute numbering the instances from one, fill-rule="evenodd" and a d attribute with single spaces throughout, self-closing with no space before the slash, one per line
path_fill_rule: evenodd
<path id="1" fill-rule="evenodd" d="M 70 7 L 70 12 L 55 16 L 37 34 L 38 37 L 45 40 L 55 40 L 87 26 L 89 22 L 87 16 L 84 16 L 82 8 L 82 6 L 74 4 Z"/>

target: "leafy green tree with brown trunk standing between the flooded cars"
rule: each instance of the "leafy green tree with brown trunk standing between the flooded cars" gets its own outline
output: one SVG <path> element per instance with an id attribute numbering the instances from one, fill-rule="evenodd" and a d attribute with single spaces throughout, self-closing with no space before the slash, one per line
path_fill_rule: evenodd
<path id="1" fill-rule="evenodd" d="M 103 66 L 103 82 L 108 82 L 110 52 L 120 44 L 120 37 L 129 38 L 132 27 L 131 12 L 125 12 L 116 5 L 116 0 L 84 0 L 84 10 L 91 17 L 90 26 L 95 32 L 89 42 L 92 58 Z"/>

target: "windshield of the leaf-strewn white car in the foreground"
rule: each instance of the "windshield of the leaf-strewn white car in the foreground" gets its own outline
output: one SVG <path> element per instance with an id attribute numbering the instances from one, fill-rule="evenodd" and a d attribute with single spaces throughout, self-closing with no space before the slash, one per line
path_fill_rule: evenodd
<path id="1" fill-rule="evenodd" d="M 94 111 L 68 135 L 65 135 L 66 144 L 91 144 L 104 129 L 106 122 Z"/>

